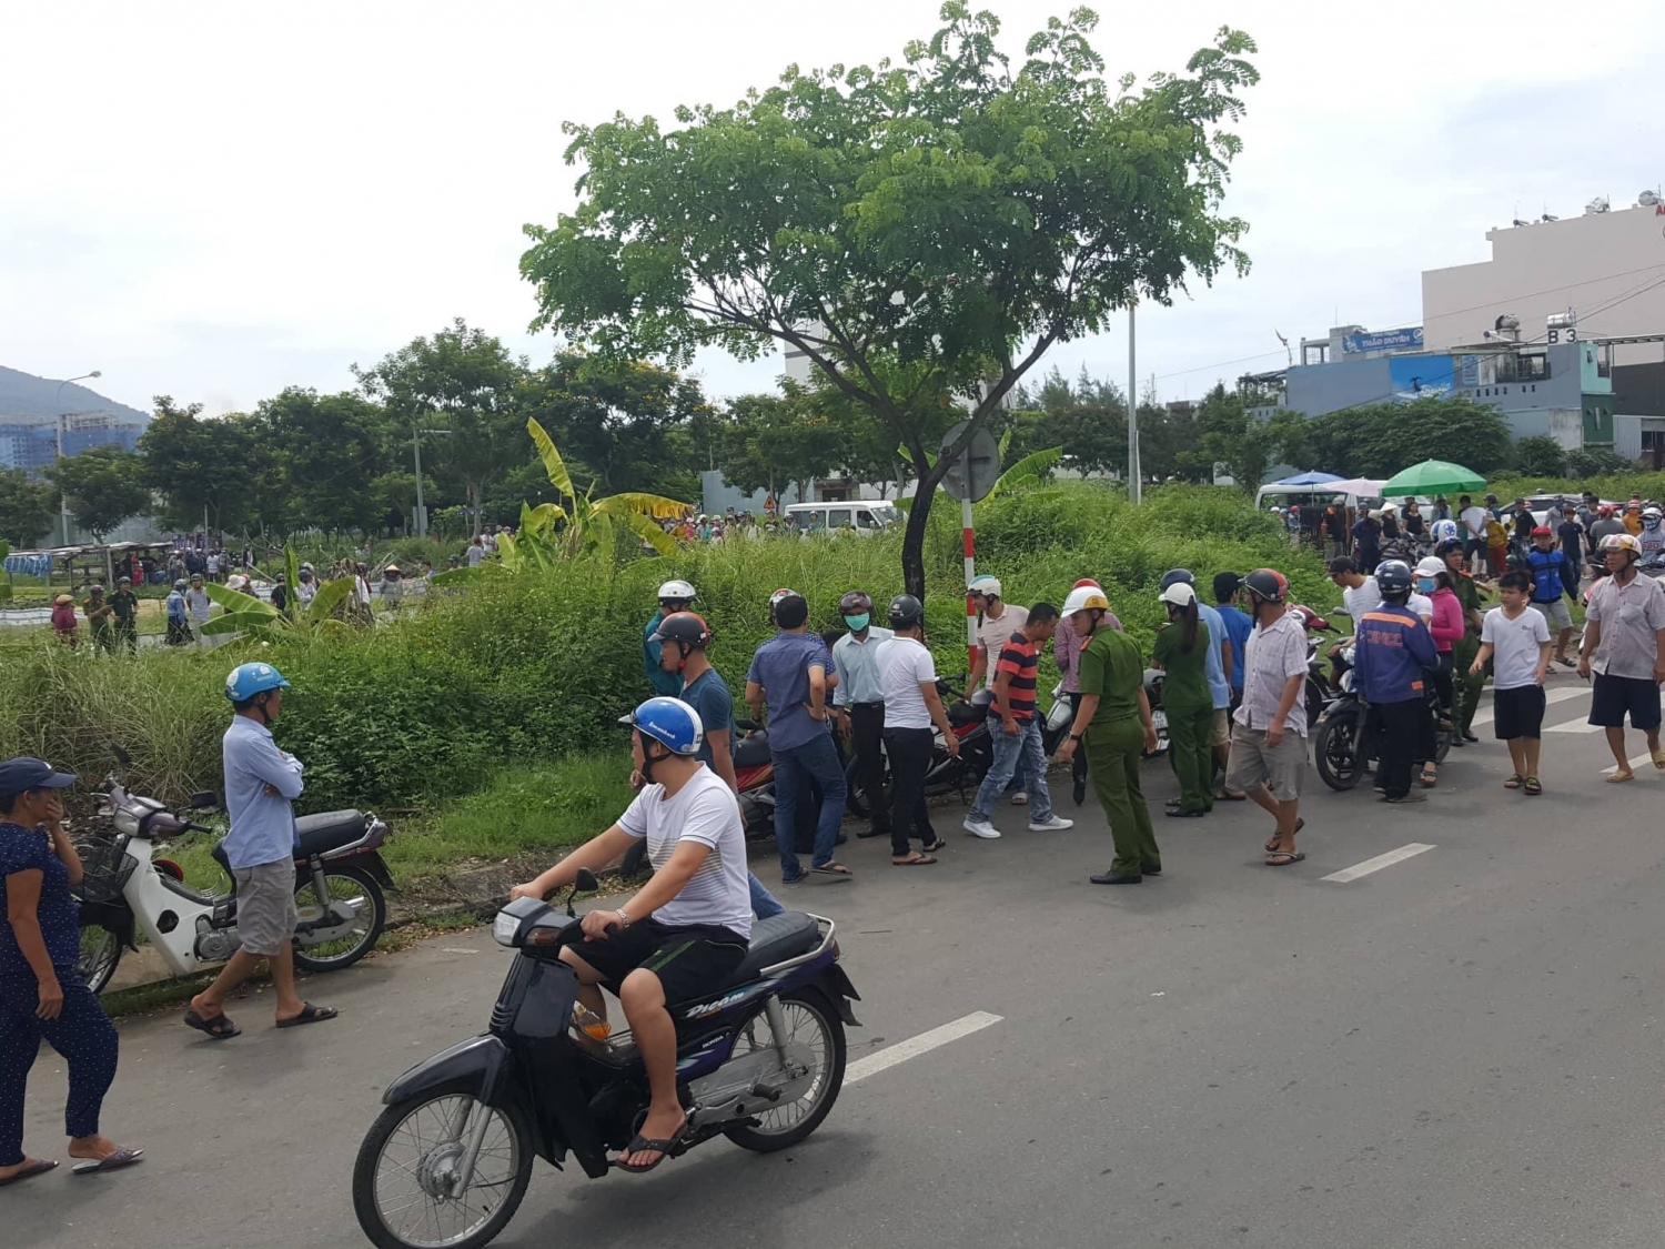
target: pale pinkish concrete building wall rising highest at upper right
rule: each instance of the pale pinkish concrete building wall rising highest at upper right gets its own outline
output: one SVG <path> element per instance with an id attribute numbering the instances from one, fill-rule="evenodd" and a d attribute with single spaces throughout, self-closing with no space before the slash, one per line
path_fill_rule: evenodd
<path id="1" fill-rule="evenodd" d="M 1660 333 L 1665 283 L 1645 288 L 1665 278 L 1662 228 L 1665 208 L 1635 207 L 1489 230 L 1490 260 L 1424 271 L 1424 345 L 1480 341 L 1505 313 L 1523 340 L 1543 341 L 1545 318 L 1568 308 L 1580 338 Z M 1633 351 L 1620 348 L 1620 361 Z"/>

